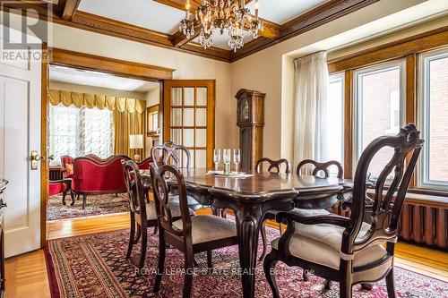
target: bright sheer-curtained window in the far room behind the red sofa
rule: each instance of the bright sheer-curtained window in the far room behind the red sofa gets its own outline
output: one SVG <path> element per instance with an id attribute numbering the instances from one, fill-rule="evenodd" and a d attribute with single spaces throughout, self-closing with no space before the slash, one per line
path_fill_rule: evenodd
<path id="1" fill-rule="evenodd" d="M 93 153 L 107 158 L 114 152 L 113 140 L 113 115 L 108 109 L 50 106 L 49 152 L 55 155 L 52 165 L 58 165 L 63 155 Z"/>

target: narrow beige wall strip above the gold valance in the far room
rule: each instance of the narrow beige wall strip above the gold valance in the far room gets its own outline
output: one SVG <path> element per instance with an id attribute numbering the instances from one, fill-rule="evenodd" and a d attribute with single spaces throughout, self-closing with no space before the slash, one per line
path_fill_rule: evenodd
<path id="1" fill-rule="evenodd" d="M 133 92 L 133 91 L 125 91 L 125 90 L 117 90 L 117 89 L 108 89 L 94 86 L 86 86 L 86 85 L 78 85 L 71 84 L 62 81 L 50 81 L 49 83 L 50 89 L 58 89 L 72 92 L 80 92 L 87 94 L 99 94 L 99 95 L 109 95 L 118 98 L 136 98 L 136 99 L 145 99 L 145 94 L 141 92 Z"/>

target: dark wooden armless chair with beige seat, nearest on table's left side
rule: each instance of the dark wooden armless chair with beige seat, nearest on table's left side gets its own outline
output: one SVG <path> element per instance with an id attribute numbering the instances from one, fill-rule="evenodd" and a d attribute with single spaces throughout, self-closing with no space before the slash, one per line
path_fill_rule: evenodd
<path id="1" fill-rule="evenodd" d="M 169 209 L 170 194 L 165 175 L 177 184 L 182 218 L 176 220 Z M 193 283 L 194 254 L 207 251 L 207 265 L 212 270 L 213 250 L 237 244 L 237 226 L 234 222 L 214 216 L 196 215 L 191 217 L 186 198 L 184 176 L 174 166 L 151 166 L 151 181 L 156 211 L 159 218 L 159 264 L 154 293 L 159 292 L 165 267 L 167 243 L 185 254 L 185 280 L 183 297 L 190 297 Z"/>

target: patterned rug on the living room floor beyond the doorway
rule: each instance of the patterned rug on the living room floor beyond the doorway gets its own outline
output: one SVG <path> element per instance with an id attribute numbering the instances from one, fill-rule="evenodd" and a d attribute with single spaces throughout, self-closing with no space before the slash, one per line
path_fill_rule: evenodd
<path id="1" fill-rule="evenodd" d="M 129 202 L 127 194 L 101 194 L 96 196 L 87 196 L 87 205 L 82 209 L 82 198 L 74 200 L 67 194 L 65 197 L 66 204 L 62 203 L 62 195 L 56 195 L 48 198 L 47 202 L 47 220 L 61 220 L 76 217 L 92 217 L 101 216 L 112 213 L 128 212 Z"/>

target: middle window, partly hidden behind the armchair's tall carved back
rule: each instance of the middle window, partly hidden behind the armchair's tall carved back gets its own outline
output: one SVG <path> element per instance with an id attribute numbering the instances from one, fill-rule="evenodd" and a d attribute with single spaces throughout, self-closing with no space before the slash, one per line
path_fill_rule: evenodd
<path id="1" fill-rule="evenodd" d="M 404 61 L 366 67 L 355 72 L 354 166 L 366 146 L 378 136 L 396 134 L 405 123 Z M 392 157 L 391 149 L 382 149 L 369 168 L 375 178 Z"/>

